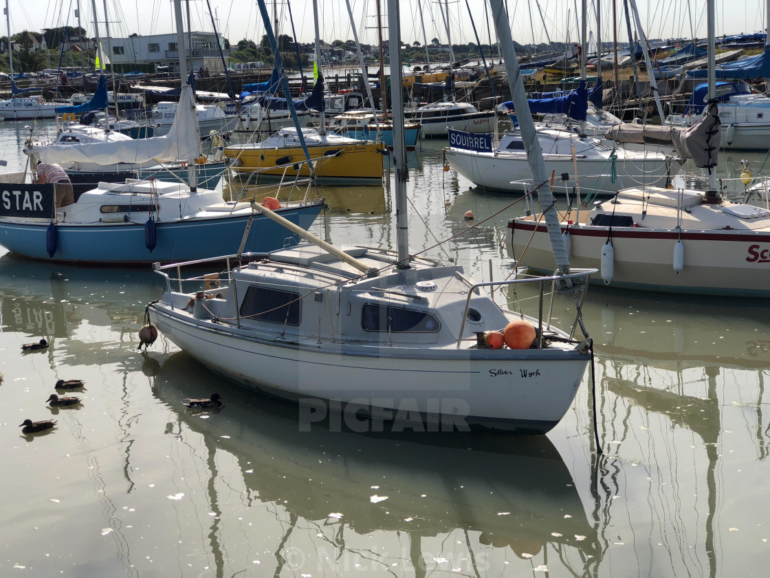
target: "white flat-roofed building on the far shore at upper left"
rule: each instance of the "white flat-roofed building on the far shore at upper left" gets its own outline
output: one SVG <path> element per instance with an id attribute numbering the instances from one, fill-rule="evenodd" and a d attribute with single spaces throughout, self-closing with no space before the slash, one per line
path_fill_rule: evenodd
<path id="1" fill-rule="evenodd" d="M 187 68 L 209 72 L 221 71 L 222 58 L 216 44 L 216 35 L 213 32 L 190 32 L 184 35 L 184 55 L 187 60 Z M 170 70 L 179 72 L 179 45 L 178 36 L 175 34 L 154 34 L 149 36 L 132 36 L 129 38 L 114 38 L 102 45 L 109 52 L 109 61 L 115 72 L 130 72 L 140 69 L 143 72 L 156 72 L 158 66 L 169 66 Z M 190 66 L 190 47 L 192 42 L 192 66 Z M 225 59 L 229 50 L 222 51 Z"/>

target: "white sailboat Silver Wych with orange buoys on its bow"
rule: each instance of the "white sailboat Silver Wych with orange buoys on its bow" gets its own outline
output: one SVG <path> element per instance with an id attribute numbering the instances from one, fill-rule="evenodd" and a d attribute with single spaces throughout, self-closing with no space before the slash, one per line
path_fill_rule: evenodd
<path id="1" fill-rule="evenodd" d="M 497 4 L 496 23 L 504 28 L 507 18 Z M 268 22 L 263 0 L 259 8 Z M 547 432 L 574 399 L 590 339 L 551 324 L 542 298 L 541 313 L 528 317 L 501 309 L 486 288 L 534 283 L 542 295 L 546 285 L 567 281 L 580 298 L 585 277 L 595 271 L 570 272 L 561 250 L 558 275 L 477 283 L 462 267 L 410 255 L 397 0 L 390 0 L 388 17 L 394 126 L 400 128 L 393 147 L 398 251 L 340 249 L 292 227 L 313 245 L 273 252 L 216 279 L 202 281 L 202 262 L 190 264 L 194 279 L 179 281 L 172 279 L 178 265 L 159 267 L 166 292 L 147 311 L 189 355 L 247 388 L 299 402 L 310 421 L 342 412 L 354 427 L 369 417 L 375 429 L 387 421 L 429 431 Z M 510 31 L 506 38 L 512 52 Z M 517 67 L 515 59 L 507 66 Z M 520 85 L 517 95 L 524 96 Z M 182 284 L 186 291 L 176 289 Z M 522 348 L 487 348 L 479 338 L 511 323 L 541 338 L 524 339 Z"/>

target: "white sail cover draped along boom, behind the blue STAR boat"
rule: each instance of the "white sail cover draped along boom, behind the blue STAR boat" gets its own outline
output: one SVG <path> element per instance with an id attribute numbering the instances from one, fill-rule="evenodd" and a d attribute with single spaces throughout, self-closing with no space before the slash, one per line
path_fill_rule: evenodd
<path id="1" fill-rule="evenodd" d="M 169 133 L 149 139 L 128 139 L 107 143 L 83 143 L 41 146 L 28 150 L 44 163 L 165 163 L 200 156 L 198 113 L 192 87 L 184 86 Z"/>

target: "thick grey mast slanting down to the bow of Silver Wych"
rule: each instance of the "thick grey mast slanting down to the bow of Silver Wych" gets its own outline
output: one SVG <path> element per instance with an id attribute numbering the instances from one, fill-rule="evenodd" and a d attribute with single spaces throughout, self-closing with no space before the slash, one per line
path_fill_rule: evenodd
<path id="1" fill-rule="evenodd" d="M 545 172 L 545 162 L 540 140 L 534 128 L 534 121 L 527 102 L 527 92 L 524 89 L 524 81 L 521 79 L 521 70 L 516 58 L 514 41 L 511 38 L 511 27 L 503 8 L 503 0 L 490 0 L 492 5 L 492 22 L 497 30 L 497 38 L 500 39 L 505 69 L 508 74 L 508 87 L 511 89 L 516 116 L 521 129 L 521 138 L 524 141 L 524 150 L 527 151 L 527 163 L 532 172 L 535 187 L 537 187 L 537 199 L 540 201 L 541 211 L 548 229 L 548 237 L 554 250 L 554 259 L 559 273 L 567 274 L 570 270 L 570 261 L 567 250 L 564 247 L 564 239 L 561 236 L 561 226 L 557 211 L 553 207 L 553 193 L 551 192 L 551 180 Z"/>

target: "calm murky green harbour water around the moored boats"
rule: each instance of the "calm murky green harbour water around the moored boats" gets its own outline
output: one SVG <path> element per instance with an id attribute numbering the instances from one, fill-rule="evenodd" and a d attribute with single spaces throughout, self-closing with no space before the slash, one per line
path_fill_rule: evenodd
<path id="1" fill-rule="evenodd" d="M 9 168 L 20 124 L 0 126 Z M 444 172 L 443 145 L 410 157 L 412 249 L 457 235 L 429 254 L 501 279 L 519 204 Z M 322 194 L 316 234 L 394 244 L 390 187 Z M 470 230 L 467 210 L 503 212 Z M 136 351 L 161 290 L 147 271 L 0 256 L 0 576 L 767 574 L 766 301 L 592 289 L 597 455 L 588 374 L 539 439 L 300 432 L 295 407 L 162 337 Z M 86 381 L 82 406 L 45 405 L 59 378 Z M 213 391 L 216 412 L 182 406 Z M 25 418 L 58 423 L 25 437 Z"/>

